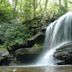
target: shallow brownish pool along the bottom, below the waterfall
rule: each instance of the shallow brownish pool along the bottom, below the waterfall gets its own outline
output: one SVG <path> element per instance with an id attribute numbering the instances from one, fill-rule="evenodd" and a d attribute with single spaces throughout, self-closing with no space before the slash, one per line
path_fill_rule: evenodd
<path id="1" fill-rule="evenodd" d="M 72 72 L 72 66 L 3 66 L 0 67 L 0 72 Z"/>

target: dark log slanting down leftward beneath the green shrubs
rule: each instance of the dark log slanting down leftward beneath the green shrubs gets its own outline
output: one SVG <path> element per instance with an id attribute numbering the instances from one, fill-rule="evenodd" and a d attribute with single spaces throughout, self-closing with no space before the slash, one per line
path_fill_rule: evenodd
<path id="1" fill-rule="evenodd" d="M 38 40 L 40 37 L 44 37 L 44 34 L 42 32 L 35 34 L 32 38 L 27 40 L 26 43 L 12 45 L 10 48 L 7 48 L 7 50 L 10 54 L 14 54 L 18 49 L 31 48 L 35 44 L 36 40 Z"/>

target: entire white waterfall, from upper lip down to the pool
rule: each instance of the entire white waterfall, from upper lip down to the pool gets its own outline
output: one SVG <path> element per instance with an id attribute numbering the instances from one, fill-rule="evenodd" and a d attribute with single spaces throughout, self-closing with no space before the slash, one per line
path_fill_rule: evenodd
<path id="1" fill-rule="evenodd" d="M 72 12 L 68 12 L 51 23 L 46 29 L 44 53 L 38 58 L 38 65 L 54 65 L 56 49 L 72 41 Z"/>

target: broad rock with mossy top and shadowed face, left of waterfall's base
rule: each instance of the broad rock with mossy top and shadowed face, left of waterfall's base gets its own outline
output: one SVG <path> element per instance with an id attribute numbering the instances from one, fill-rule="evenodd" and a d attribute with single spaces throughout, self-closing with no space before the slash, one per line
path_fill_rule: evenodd
<path id="1" fill-rule="evenodd" d="M 39 53 L 34 48 L 18 49 L 15 51 L 16 62 L 24 64 L 32 63 L 38 57 Z"/>

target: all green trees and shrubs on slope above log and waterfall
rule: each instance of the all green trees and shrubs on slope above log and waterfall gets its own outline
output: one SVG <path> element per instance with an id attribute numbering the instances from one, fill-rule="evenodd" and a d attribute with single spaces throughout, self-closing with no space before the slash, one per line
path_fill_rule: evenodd
<path id="1" fill-rule="evenodd" d="M 4 45 L 26 42 L 42 26 L 69 11 L 69 1 L 59 1 L 12 0 L 10 4 L 9 0 L 0 0 L 0 39 L 5 41 Z"/>

